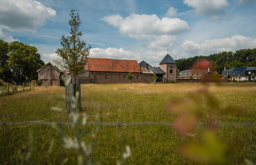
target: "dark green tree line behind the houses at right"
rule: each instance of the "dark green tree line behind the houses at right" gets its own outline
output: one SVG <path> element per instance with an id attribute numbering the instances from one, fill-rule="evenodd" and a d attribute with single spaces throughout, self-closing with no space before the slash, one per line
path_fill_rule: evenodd
<path id="1" fill-rule="evenodd" d="M 222 74 L 224 67 L 231 69 L 234 67 L 250 67 L 256 66 L 256 48 L 254 49 L 240 49 L 235 53 L 233 52 L 221 52 L 211 54 L 209 56 L 194 56 L 187 59 L 181 58 L 175 60 L 179 71 L 189 70 L 192 65 L 200 60 L 207 59 L 211 62 L 211 71 L 216 71 L 218 74 Z"/>

